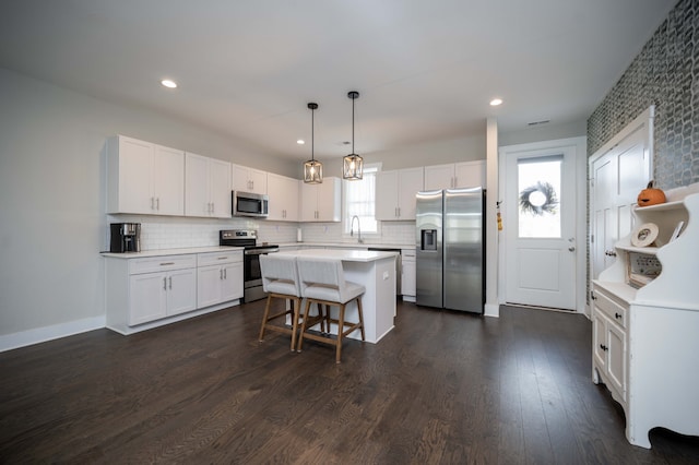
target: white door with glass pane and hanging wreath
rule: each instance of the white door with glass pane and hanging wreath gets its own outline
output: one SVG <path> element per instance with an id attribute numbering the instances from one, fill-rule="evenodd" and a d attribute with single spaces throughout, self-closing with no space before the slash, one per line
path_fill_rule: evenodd
<path id="1" fill-rule="evenodd" d="M 576 152 L 574 145 L 506 152 L 509 303 L 576 310 Z"/>

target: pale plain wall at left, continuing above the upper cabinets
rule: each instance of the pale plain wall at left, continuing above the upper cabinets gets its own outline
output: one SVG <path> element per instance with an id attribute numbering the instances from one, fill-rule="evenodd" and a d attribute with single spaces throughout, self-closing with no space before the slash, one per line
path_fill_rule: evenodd
<path id="1" fill-rule="evenodd" d="M 0 336 L 104 321 L 104 145 L 126 134 L 286 176 L 221 134 L 0 69 Z M 274 167 L 274 169 L 271 169 Z M 49 331 L 50 333 L 50 331 Z"/>

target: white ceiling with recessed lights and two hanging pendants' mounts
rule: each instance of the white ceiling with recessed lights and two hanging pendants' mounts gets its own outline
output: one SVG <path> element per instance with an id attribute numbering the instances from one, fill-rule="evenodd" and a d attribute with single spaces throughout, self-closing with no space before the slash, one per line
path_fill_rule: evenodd
<path id="1" fill-rule="evenodd" d="M 587 119 L 676 0 L 3 0 L 0 67 L 308 158 Z M 161 86 L 163 78 L 179 83 Z M 505 104 L 491 108 L 488 102 Z"/>

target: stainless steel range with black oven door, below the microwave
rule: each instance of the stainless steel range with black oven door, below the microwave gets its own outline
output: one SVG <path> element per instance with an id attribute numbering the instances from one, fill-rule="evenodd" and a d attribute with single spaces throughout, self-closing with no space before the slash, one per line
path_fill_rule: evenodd
<path id="1" fill-rule="evenodd" d="M 254 229 L 222 229 L 218 231 L 218 245 L 245 248 L 242 251 L 242 301 L 252 302 L 266 297 L 262 290 L 260 255 L 279 252 L 280 247 L 266 242 L 258 245 L 258 231 Z"/>

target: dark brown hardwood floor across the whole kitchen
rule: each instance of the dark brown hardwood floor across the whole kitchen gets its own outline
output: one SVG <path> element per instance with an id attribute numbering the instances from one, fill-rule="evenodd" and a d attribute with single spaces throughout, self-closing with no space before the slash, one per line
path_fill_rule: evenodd
<path id="1" fill-rule="evenodd" d="M 0 463 L 699 463 L 697 438 L 626 441 L 582 315 L 400 303 L 335 365 L 327 345 L 258 343 L 263 303 L 0 354 Z"/>

